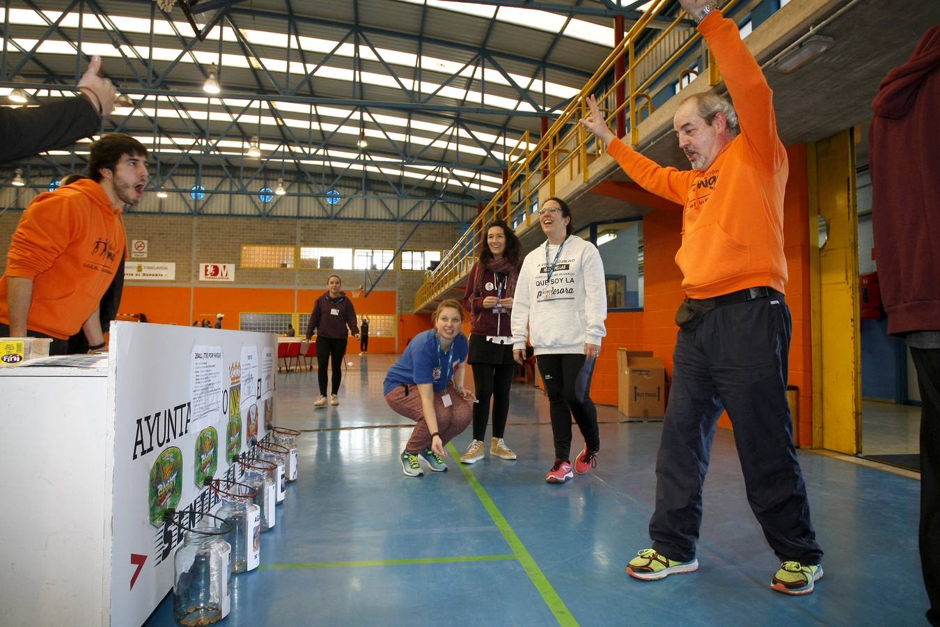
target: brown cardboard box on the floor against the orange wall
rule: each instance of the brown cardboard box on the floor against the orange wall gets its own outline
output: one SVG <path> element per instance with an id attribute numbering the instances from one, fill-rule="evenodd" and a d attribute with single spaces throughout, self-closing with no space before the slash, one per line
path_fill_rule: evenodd
<path id="1" fill-rule="evenodd" d="M 652 351 L 617 351 L 617 397 L 628 417 L 666 415 L 666 368 Z"/>

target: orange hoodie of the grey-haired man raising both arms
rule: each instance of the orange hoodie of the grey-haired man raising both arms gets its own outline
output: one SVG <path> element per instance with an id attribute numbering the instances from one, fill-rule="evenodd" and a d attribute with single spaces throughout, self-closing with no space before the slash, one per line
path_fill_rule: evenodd
<path id="1" fill-rule="evenodd" d="M 607 151 L 639 185 L 684 207 L 676 263 L 689 298 L 768 286 L 783 291 L 787 152 L 776 134 L 773 92 L 738 26 L 712 11 L 698 25 L 712 48 L 741 133 L 708 170 L 661 167 L 614 139 Z"/>

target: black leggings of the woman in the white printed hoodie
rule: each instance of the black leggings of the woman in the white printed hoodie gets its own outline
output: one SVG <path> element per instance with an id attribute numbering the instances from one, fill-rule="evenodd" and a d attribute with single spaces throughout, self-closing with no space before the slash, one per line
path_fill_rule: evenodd
<path id="1" fill-rule="evenodd" d="M 571 462 L 572 415 L 587 447 L 599 450 L 601 434 L 597 428 L 597 408 L 590 400 L 595 360 L 586 359 L 583 353 L 540 354 L 536 359 L 548 394 L 556 459 Z"/>

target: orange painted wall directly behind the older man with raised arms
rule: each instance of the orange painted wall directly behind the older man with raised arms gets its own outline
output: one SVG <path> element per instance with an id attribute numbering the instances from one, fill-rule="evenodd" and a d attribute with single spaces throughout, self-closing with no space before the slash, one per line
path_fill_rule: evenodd
<path id="1" fill-rule="evenodd" d="M 812 446 L 812 361 L 809 299 L 809 202 L 807 193 L 807 150 L 803 144 L 787 149 L 790 179 L 784 197 L 784 251 L 790 281 L 787 303 L 793 319 L 790 347 L 790 384 L 799 388 L 798 445 Z M 591 398 L 617 404 L 617 349 L 652 351 L 672 374 L 672 352 L 676 346 L 676 309 L 682 303 L 682 273 L 674 257 L 682 243 L 682 212 L 657 209 L 643 218 L 644 310 L 611 313 L 607 316 L 607 337 L 598 359 Z M 719 425 L 730 427 L 728 415 Z"/>

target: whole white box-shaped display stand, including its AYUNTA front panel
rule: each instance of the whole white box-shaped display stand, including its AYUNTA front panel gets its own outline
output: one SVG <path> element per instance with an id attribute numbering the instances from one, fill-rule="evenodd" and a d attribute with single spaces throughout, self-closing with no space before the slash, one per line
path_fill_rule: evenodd
<path id="1" fill-rule="evenodd" d="M 97 367 L 0 368 L 5 627 L 141 624 L 172 588 L 180 541 L 151 523 L 151 494 L 179 510 L 212 507 L 196 485 L 211 469 L 211 448 L 199 465 L 200 433 L 217 433 L 211 476 L 221 478 L 229 419 L 242 426 L 238 452 L 274 422 L 274 334 L 116 322 L 110 338 Z"/>

